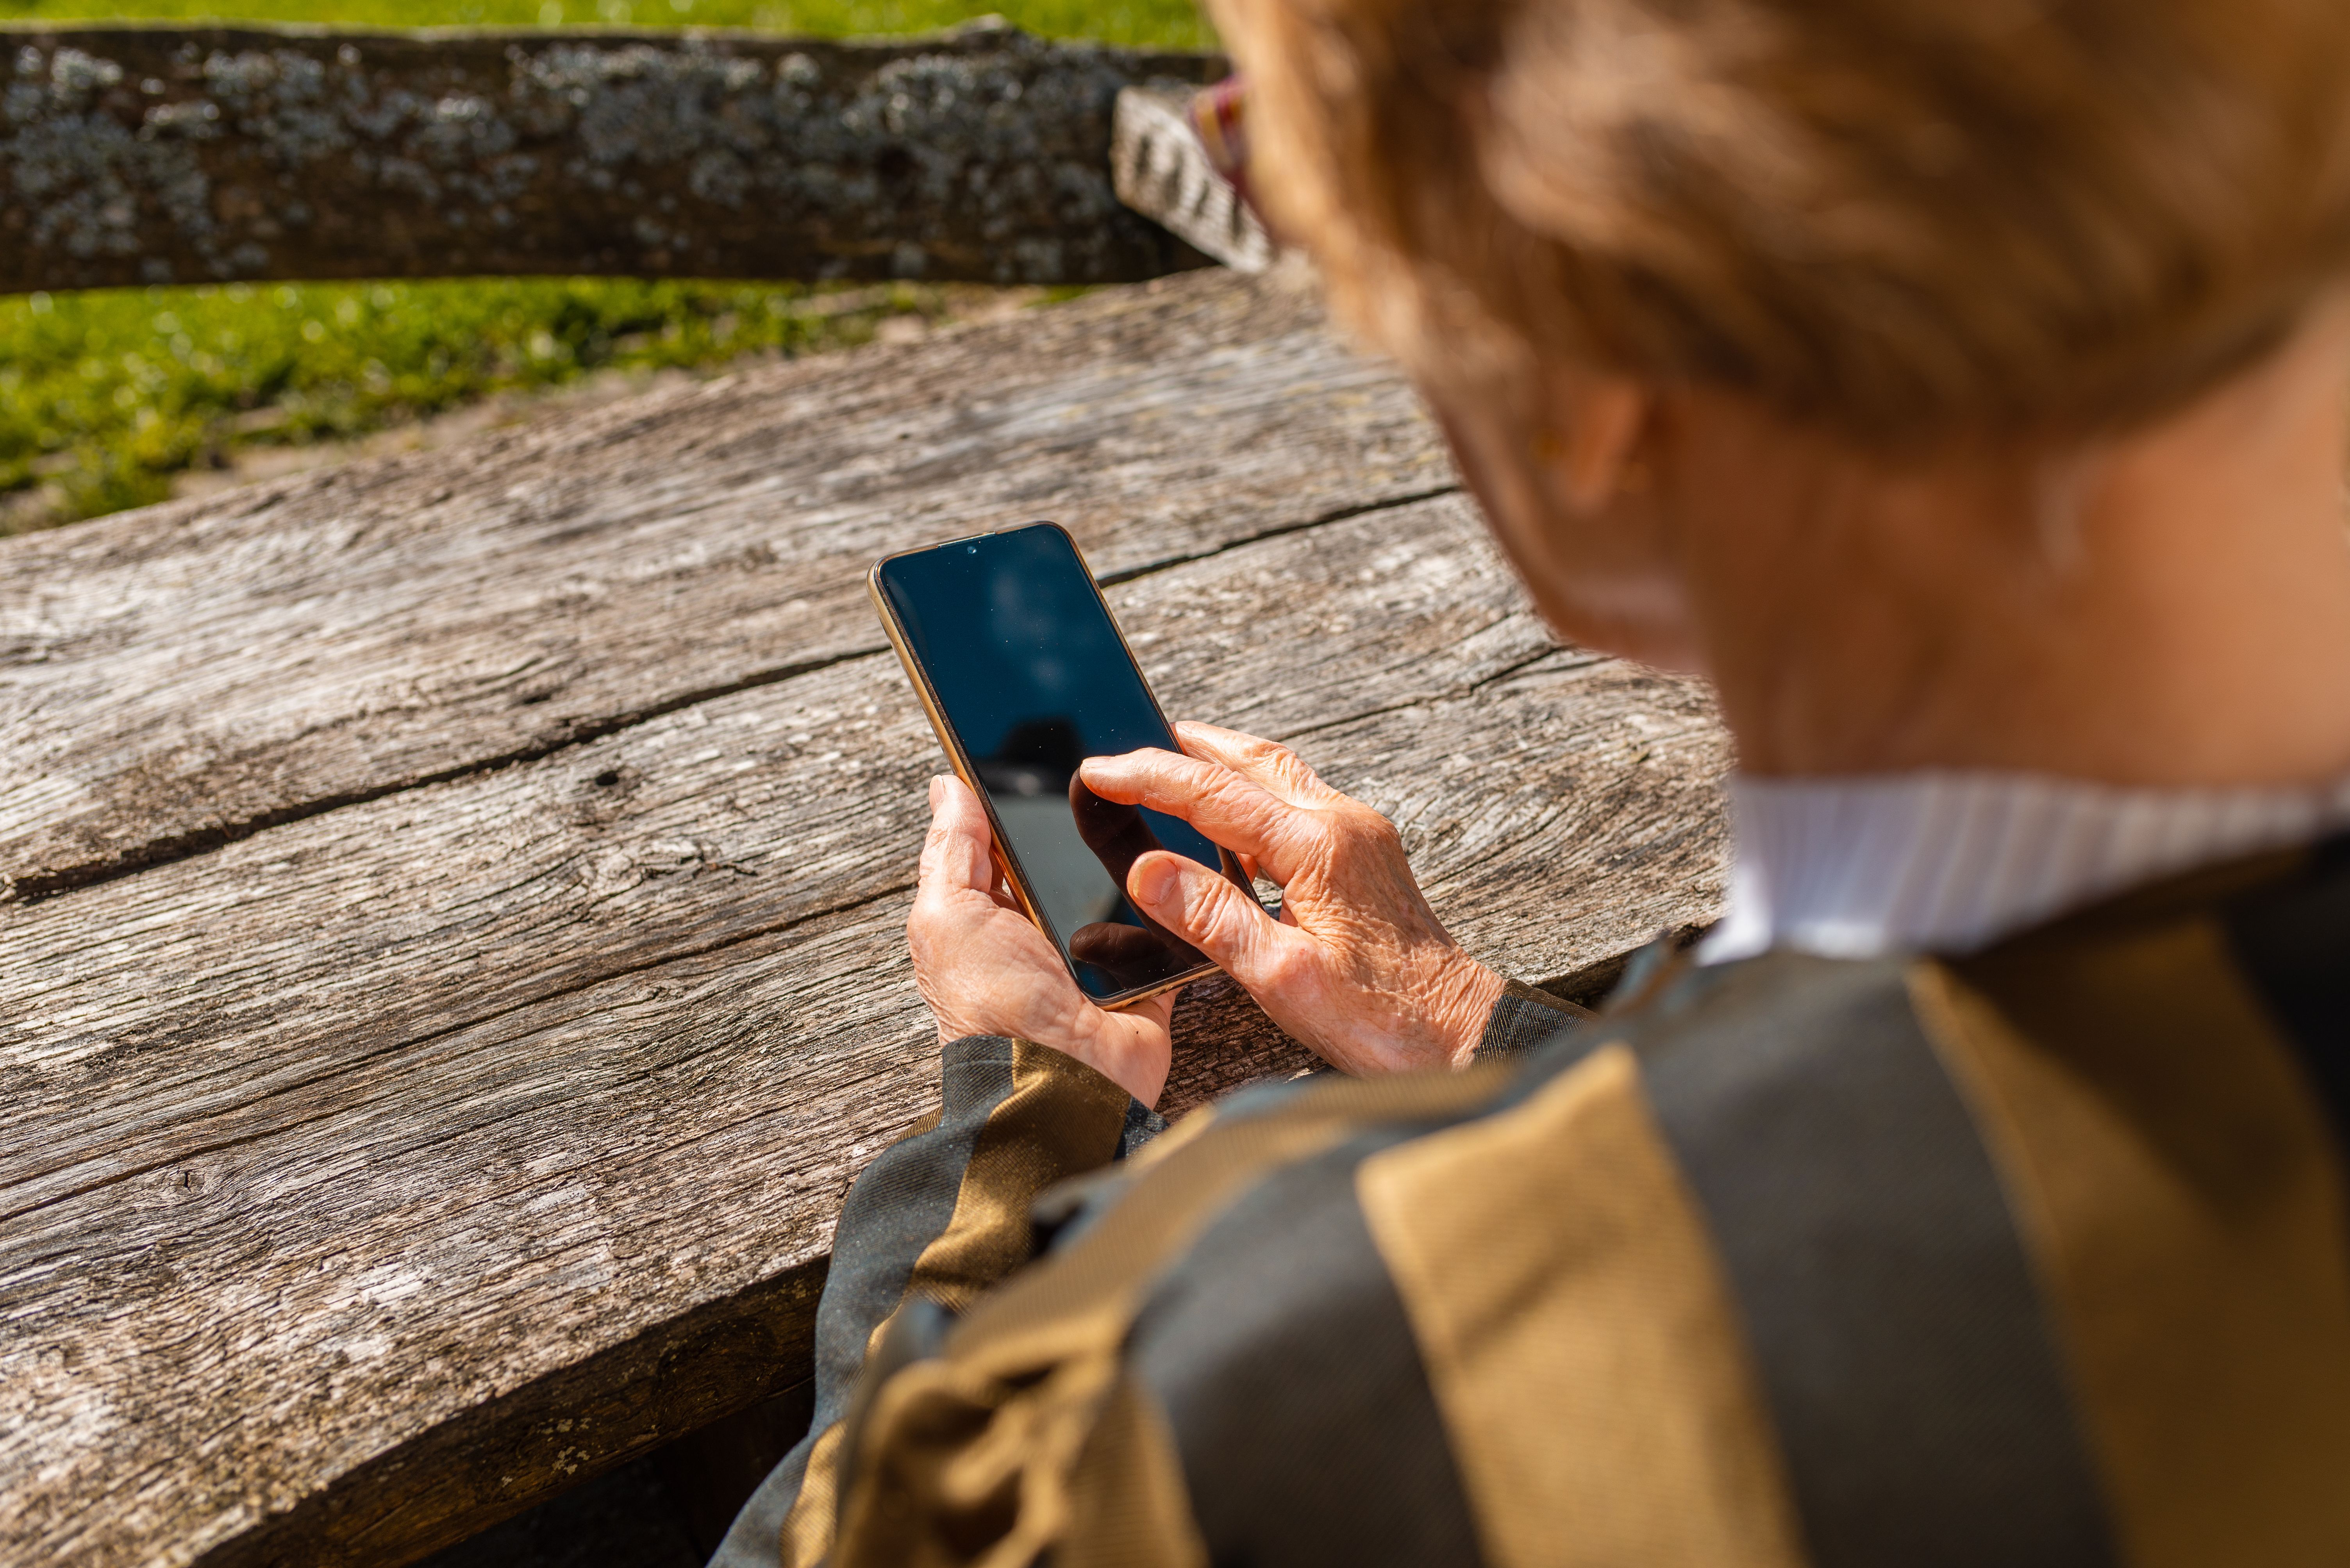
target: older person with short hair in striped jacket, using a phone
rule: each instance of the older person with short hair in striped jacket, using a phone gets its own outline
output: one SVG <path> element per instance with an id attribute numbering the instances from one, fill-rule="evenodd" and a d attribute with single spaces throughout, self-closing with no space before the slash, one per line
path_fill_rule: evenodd
<path id="1" fill-rule="evenodd" d="M 1217 19 L 1542 613 L 1720 690 L 1730 913 L 1577 1019 L 1281 746 L 1093 761 L 1349 1075 L 1126 1160 L 1168 1002 L 938 782 L 942 1120 L 724 1561 L 2350 1563 L 2350 7 Z"/>

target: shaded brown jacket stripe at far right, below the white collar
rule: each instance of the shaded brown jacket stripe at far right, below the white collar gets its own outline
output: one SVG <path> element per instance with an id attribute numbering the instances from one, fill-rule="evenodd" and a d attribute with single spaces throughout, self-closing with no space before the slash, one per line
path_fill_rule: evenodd
<path id="1" fill-rule="evenodd" d="M 1920 967 L 2138 1568 L 2350 1563 L 2341 1169 L 2204 922 Z"/>

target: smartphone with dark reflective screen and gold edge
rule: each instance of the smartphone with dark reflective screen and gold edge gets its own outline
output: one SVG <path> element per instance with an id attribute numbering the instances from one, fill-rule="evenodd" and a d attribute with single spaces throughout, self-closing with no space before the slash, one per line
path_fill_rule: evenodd
<path id="1" fill-rule="evenodd" d="M 1029 523 L 884 556 L 865 582 L 938 744 L 987 803 L 1003 883 L 1079 991 L 1123 1007 L 1210 972 L 1198 948 L 1135 911 L 1126 871 L 1173 850 L 1250 890 L 1241 861 L 1187 822 L 1102 800 L 1076 777 L 1088 756 L 1182 749 L 1076 540 Z"/>

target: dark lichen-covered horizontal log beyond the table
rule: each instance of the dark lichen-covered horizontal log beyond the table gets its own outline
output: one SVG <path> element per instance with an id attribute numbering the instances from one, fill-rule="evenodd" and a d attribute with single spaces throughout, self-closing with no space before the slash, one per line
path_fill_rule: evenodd
<path id="1" fill-rule="evenodd" d="M 1208 54 L 1027 38 L 0 33 L 0 291 L 284 277 L 1097 284 L 1201 256 L 1112 103 Z"/>

